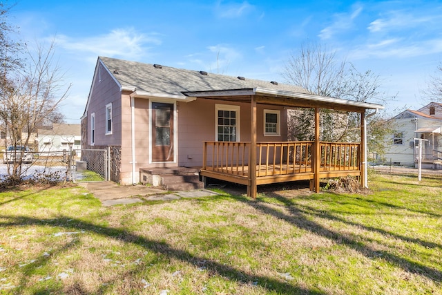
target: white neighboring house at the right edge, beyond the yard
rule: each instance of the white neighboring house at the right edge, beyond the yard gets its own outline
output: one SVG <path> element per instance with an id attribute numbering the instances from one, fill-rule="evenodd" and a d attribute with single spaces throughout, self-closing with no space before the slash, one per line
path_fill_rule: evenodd
<path id="1" fill-rule="evenodd" d="M 387 139 L 385 160 L 415 166 L 422 141 L 423 167 L 442 169 L 442 104 L 431 102 L 417 111 L 406 110 L 392 119 L 396 132 Z"/>

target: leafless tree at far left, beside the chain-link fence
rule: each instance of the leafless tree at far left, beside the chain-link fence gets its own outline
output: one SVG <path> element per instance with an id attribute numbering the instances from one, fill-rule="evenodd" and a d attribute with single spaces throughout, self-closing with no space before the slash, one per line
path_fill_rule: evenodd
<path id="1" fill-rule="evenodd" d="M 37 44 L 28 50 L 28 66 L 9 79 L 9 87 L 0 95 L 0 120 L 6 126 L 12 146 L 28 146 L 32 132 L 48 117 L 59 114 L 57 107 L 68 95 L 70 84 L 63 84 L 64 74 L 54 59 L 54 43 L 48 48 Z M 24 136 L 23 136 L 24 132 Z M 20 177 L 22 158 L 17 157 L 8 173 Z"/>

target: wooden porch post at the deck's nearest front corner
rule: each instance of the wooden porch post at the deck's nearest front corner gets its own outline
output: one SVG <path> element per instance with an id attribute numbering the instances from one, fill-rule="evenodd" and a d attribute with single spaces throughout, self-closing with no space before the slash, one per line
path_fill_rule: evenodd
<path id="1" fill-rule="evenodd" d="M 249 162 L 249 180 L 250 184 L 247 186 L 247 196 L 256 198 L 256 101 L 251 95 L 250 99 L 251 109 L 251 144 L 250 144 L 250 162 Z"/>

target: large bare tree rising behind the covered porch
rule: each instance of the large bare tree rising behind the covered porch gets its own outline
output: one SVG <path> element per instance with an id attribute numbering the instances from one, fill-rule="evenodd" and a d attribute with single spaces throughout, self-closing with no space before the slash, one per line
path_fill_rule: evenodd
<path id="1" fill-rule="evenodd" d="M 385 97 L 379 88 L 381 86 L 378 75 L 367 70 L 359 72 L 353 64 L 345 59 L 338 60 L 336 51 L 326 46 L 307 42 L 300 49 L 291 54 L 285 66 L 282 77 L 286 82 L 301 86 L 307 93 L 327 97 L 351 99 L 358 102 L 368 100 L 385 102 Z M 291 111 L 289 130 L 292 137 L 298 140 L 312 140 L 314 135 L 313 111 L 311 109 L 297 109 Z M 373 122 L 380 117 L 370 118 Z M 358 114 L 343 111 L 321 110 L 320 138 L 325 141 L 360 140 L 358 129 L 361 122 Z M 300 127 L 300 128 L 299 128 Z M 370 128 L 380 128 L 379 124 L 370 124 Z M 384 133 L 389 129 L 385 128 Z M 376 138 L 368 142 L 374 148 L 375 141 L 379 140 L 381 131 L 376 131 Z M 383 151 L 380 151 L 382 153 Z"/>

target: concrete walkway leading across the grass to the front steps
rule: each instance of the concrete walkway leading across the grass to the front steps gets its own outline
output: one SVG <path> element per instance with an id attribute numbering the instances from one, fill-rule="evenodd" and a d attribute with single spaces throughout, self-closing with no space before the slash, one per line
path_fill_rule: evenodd
<path id="1" fill-rule="evenodd" d="M 79 182 L 81 187 L 85 187 L 99 199 L 103 206 L 113 206 L 117 204 L 133 204 L 144 200 L 177 200 L 180 198 L 201 198 L 217 196 L 218 193 L 206 189 L 195 189 L 193 191 L 169 192 L 154 187 L 144 185 L 124 186 L 115 182 Z"/>

